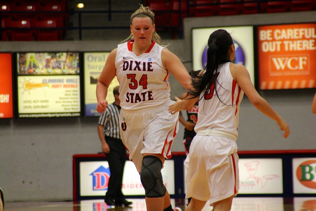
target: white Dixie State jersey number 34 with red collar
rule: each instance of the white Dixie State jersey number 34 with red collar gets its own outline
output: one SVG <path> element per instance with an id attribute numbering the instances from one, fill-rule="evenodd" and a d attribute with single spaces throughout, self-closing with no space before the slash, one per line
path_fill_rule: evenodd
<path id="1" fill-rule="evenodd" d="M 163 105 L 170 100 L 169 72 L 161 62 L 163 47 L 152 41 L 140 56 L 132 51 L 134 40 L 118 45 L 115 59 L 121 107 L 137 111 Z"/>

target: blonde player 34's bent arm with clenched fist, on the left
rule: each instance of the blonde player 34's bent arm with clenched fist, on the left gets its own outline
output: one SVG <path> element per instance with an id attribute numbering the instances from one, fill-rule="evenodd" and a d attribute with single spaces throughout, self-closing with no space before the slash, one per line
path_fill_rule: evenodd
<path id="1" fill-rule="evenodd" d="M 116 59 L 117 48 L 115 48 L 107 57 L 106 63 L 100 74 L 96 87 L 97 96 L 97 112 L 102 113 L 107 108 L 107 90 L 116 76 L 115 59 Z"/>

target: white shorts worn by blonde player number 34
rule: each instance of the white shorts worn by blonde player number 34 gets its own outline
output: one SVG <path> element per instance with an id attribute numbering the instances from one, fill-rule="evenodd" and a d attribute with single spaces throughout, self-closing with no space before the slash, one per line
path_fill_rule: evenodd
<path id="1" fill-rule="evenodd" d="M 172 115 L 168 108 L 174 101 L 140 111 L 121 109 L 120 133 L 130 153 L 129 159 L 140 172 L 143 153 L 161 154 L 171 158 L 171 145 L 179 130 L 179 113 Z"/>

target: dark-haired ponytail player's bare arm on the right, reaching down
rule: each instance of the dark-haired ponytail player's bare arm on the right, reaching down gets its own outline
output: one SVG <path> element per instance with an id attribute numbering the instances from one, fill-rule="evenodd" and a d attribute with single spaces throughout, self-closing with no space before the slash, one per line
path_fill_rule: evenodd
<path id="1" fill-rule="evenodd" d="M 267 115 L 271 119 L 277 122 L 281 130 L 284 131 L 284 138 L 289 136 L 290 130 L 289 125 L 281 118 L 279 114 L 269 105 L 269 103 L 259 95 L 257 90 L 254 88 L 249 72 L 243 65 L 230 64 L 230 72 L 234 80 L 237 81 L 240 88 L 244 91 L 250 102 L 263 114 Z"/>

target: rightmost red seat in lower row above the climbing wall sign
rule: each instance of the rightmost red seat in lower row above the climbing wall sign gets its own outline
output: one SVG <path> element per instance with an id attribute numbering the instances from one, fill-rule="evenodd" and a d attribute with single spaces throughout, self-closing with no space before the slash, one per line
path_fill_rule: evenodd
<path id="1" fill-rule="evenodd" d="M 47 21 L 32 21 L 31 26 L 34 28 L 43 28 L 43 29 L 35 29 L 35 40 L 38 41 L 48 41 L 48 40 L 59 40 L 58 31 L 55 29 L 56 21 L 47 20 Z M 46 29 L 45 29 L 46 28 Z M 47 29 L 50 28 L 50 29 Z"/>

